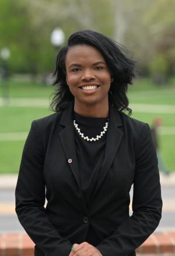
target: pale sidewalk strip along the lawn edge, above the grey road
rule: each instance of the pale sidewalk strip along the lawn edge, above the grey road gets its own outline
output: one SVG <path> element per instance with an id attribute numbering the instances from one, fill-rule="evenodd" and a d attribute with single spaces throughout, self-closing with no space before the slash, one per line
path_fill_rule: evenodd
<path id="1" fill-rule="evenodd" d="M 17 182 L 16 174 L 0 175 L 0 190 L 1 189 L 15 189 Z M 175 172 L 169 175 L 160 173 L 160 183 L 163 187 L 175 187 Z"/>

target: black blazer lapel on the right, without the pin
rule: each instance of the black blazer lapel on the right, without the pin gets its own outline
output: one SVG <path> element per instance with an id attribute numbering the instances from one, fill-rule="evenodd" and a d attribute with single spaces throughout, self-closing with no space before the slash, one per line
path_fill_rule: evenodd
<path id="1" fill-rule="evenodd" d="M 101 166 L 101 171 L 100 171 L 99 179 L 97 181 L 95 193 L 99 189 L 101 183 L 103 182 L 108 171 L 110 170 L 111 164 L 113 163 L 118 147 L 120 146 L 123 132 L 118 127 L 121 127 L 121 126 L 122 126 L 122 122 L 121 122 L 120 114 L 118 113 L 117 110 L 115 110 L 112 106 L 110 106 L 104 161 Z"/>

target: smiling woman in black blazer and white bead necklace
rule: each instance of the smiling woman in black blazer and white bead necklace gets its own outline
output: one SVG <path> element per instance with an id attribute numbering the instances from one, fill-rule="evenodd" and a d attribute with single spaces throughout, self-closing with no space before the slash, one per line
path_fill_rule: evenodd
<path id="1" fill-rule="evenodd" d="M 16 213 L 35 255 L 135 255 L 159 224 L 150 129 L 122 112 L 131 113 L 133 77 L 134 62 L 91 30 L 71 35 L 58 54 L 56 113 L 32 123 L 16 186 Z"/>

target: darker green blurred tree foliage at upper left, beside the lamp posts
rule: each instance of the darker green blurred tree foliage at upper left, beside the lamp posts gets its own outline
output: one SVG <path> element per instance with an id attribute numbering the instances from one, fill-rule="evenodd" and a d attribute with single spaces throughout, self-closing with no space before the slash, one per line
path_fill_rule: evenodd
<path id="1" fill-rule="evenodd" d="M 10 70 L 31 74 L 53 70 L 54 49 L 50 45 L 50 35 L 40 37 L 40 30 L 31 23 L 27 5 L 1 0 L 0 9 L 0 48 L 10 49 Z"/>

